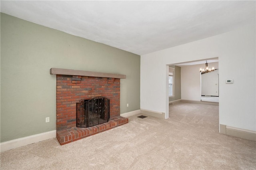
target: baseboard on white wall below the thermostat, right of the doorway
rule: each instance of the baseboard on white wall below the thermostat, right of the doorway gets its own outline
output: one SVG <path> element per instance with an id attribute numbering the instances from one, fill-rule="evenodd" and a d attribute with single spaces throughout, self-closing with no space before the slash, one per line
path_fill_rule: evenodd
<path id="1" fill-rule="evenodd" d="M 220 124 L 220 133 L 256 141 L 256 131 L 230 127 Z"/>

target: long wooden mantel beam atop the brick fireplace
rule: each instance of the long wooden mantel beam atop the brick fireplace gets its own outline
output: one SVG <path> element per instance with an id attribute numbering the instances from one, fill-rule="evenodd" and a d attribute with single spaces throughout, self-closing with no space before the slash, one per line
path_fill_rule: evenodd
<path id="1" fill-rule="evenodd" d="M 81 76 L 89 76 L 89 77 L 108 77 L 108 78 L 126 79 L 126 75 L 122 75 L 122 74 L 99 73 L 99 72 L 93 72 L 93 71 L 81 71 L 81 70 L 57 69 L 57 68 L 51 68 L 50 74 L 81 75 Z"/>

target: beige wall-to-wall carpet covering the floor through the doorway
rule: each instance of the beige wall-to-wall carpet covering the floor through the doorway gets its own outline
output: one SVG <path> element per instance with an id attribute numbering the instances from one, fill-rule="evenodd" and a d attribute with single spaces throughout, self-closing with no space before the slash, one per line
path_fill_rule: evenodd
<path id="1" fill-rule="evenodd" d="M 256 142 L 218 133 L 218 106 L 175 103 L 167 120 L 129 123 L 60 146 L 56 138 L 1 153 L 6 169 L 256 169 Z"/>

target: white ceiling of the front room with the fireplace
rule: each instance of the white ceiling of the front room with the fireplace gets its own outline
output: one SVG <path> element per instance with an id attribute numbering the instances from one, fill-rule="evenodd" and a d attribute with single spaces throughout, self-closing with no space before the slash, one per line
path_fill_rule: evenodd
<path id="1" fill-rule="evenodd" d="M 143 55 L 255 24 L 254 1 L 0 1 L 1 12 Z"/>

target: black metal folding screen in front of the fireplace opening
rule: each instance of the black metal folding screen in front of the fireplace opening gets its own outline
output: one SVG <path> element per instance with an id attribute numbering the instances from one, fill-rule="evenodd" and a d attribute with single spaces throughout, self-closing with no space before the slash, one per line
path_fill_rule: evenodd
<path id="1" fill-rule="evenodd" d="M 76 127 L 92 127 L 109 121 L 109 99 L 95 97 L 76 103 Z"/>

